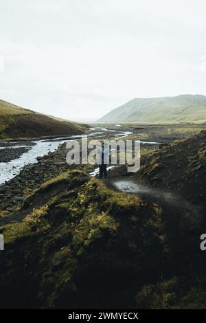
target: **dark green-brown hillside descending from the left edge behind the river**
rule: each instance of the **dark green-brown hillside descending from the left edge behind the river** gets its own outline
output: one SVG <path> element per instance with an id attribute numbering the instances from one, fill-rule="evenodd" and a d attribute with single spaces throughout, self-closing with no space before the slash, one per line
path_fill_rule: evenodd
<path id="1" fill-rule="evenodd" d="M 87 127 L 0 100 L 0 139 L 77 135 Z"/>

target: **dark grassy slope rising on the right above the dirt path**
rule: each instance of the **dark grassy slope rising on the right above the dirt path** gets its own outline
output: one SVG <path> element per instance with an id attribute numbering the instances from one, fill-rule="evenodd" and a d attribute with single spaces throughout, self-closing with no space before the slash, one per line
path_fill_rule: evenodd
<path id="1" fill-rule="evenodd" d="M 137 177 L 152 186 L 181 192 L 194 203 L 205 203 L 206 131 L 160 146 L 159 151 L 141 159 Z"/>

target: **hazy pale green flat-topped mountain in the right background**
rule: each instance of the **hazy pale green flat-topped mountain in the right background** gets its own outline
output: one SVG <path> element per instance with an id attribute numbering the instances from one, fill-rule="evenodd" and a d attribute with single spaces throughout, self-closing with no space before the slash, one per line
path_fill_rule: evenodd
<path id="1" fill-rule="evenodd" d="M 165 98 L 135 98 L 107 113 L 98 122 L 206 122 L 206 97 L 188 94 Z"/>

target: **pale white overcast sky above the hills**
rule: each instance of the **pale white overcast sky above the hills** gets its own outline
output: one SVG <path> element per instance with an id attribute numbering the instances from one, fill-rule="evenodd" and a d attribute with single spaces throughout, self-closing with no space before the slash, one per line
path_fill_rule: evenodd
<path id="1" fill-rule="evenodd" d="M 0 0 L 0 98 L 97 120 L 139 97 L 206 94 L 205 0 Z"/>

